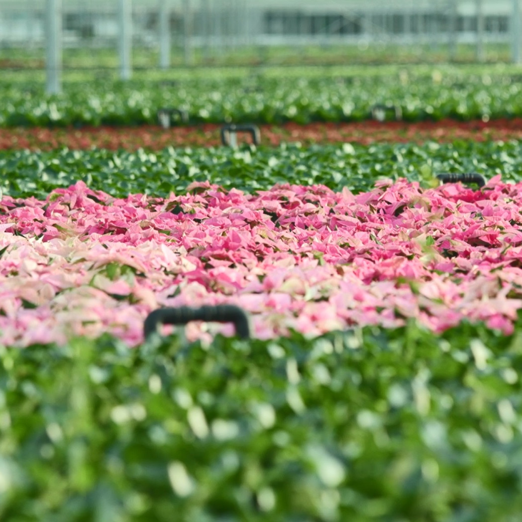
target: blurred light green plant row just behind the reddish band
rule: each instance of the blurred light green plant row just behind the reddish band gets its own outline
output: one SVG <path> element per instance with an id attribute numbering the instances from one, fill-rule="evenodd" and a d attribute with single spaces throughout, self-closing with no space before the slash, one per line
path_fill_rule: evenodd
<path id="1" fill-rule="evenodd" d="M 458 70 L 458 69 L 457 69 Z M 189 123 L 363 121 L 376 104 L 400 109 L 406 121 L 522 116 L 522 84 L 512 76 L 453 72 L 372 76 L 179 78 L 70 84 L 47 96 L 40 83 L 4 81 L 0 126 L 157 124 L 157 111 L 177 108 Z M 395 112 L 387 112 L 394 118 Z M 174 124 L 182 124 L 176 121 Z"/>

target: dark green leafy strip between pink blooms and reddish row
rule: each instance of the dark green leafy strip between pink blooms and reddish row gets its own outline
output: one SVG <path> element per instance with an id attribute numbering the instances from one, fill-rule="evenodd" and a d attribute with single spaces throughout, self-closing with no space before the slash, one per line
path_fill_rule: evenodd
<path id="1" fill-rule="evenodd" d="M 13 197 L 45 198 L 54 188 L 82 180 L 94 190 L 118 197 L 129 193 L 164 197 L 184 192 L 194 181 L 245 192 L 291 183 L 324 184 L 336 191 L 348 187 L 354 193 L 369 190 L 382 177 L 429 181 L 441 172 L 478 172 L 486 178 L 501 173 L 503 181 L 514 182 L 522 172 L 519 150 L 520 142 L 513 140 L 370 147 L 168 148 L 160 152 L 0 151 L 0 188 Z"/>

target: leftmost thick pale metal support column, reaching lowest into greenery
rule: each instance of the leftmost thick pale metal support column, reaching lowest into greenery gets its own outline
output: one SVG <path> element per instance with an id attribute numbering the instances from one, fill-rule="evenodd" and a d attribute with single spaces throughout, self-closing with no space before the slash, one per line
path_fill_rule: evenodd
<path id="1" fill-rule="evenodd" d="M 57 94 L 62 91 L 62 0 L 46 0 L 45 9 L 45 90 Z"/>

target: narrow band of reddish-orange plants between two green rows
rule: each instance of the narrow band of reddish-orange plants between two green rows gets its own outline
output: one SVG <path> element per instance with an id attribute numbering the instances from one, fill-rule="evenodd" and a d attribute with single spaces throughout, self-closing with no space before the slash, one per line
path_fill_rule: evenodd
<path id="1" fill-rule="evenodd" d="M 105 148 L 110 150 L 162 150 L 166 147 L 218 147 L 222 144 L 221 127 L 215 124 L 179 126 L 164 129 L 157 125 L 139 127 L 16 127 L 0 128 L 2 150 L 54 150 Z M 298 125 L 260 126 L 263 145 L 299 142 L 303 145 L 360 143 L 425 143 L 437 140 L 450 143 L 455 140 L 511 140 L 522 138 L 522 118 L 455 122 L 351 122 Z M 238 141 L 252 140 L 239 133 Z"/>

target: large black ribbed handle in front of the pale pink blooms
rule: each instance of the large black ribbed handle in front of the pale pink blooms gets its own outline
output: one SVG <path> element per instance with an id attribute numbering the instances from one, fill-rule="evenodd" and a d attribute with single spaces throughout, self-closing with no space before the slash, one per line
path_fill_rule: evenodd
<path id="1" fill-rule="evenodd" d="M 218 304 L 216 306 L 201 306 L 200 308 L 180 306 L 178 308 L 160 308 L 155 310 L 145 319 L 145 339 L 155 331 L 158 331 L 160 324 L 184 325 L 191 321 L 234 323 L 235 333 L 238 337 L 241 339 L 250 337 L 250 326 L 248 326 L 246 313 L 239 306 Z"/>

